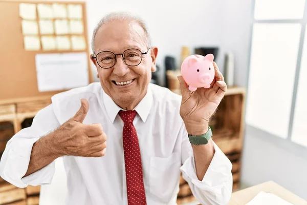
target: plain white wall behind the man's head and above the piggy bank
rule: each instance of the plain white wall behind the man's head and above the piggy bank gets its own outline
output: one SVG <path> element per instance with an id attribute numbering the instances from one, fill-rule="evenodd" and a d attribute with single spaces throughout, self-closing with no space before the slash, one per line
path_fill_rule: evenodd
<path id="1" fill-rule="evenodd" d="M 152 45 L 159 49 L 157 64 L 164 69 L 165 55 L 179 59 L 182 46 L 189 46 L 194 52 L 196 46 L 221 46 L 222 18 L 219 9 L 223 1 L 87 1 L 87 22 L 89 37 L 99 19 L 108 12 L 130 11 L 139 14 L 148 24 Z M 218 53 L 217 64 L 223 67 Z M 96 73 L 96 68 L 93 66 Z M 96 78 L 96 77 L 95 77 Z M 95 79 L 94 78 L 94 79 Z"/>

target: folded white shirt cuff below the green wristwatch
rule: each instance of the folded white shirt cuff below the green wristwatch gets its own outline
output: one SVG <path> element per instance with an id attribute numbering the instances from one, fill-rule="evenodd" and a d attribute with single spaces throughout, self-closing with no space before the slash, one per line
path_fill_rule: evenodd
<path id="1" fill-rule="evenodd" d="M 215 153 L 202 180 L 199 180 L 196 175 L 193 150 L 190 151 L 190 157 L 184 162 L 181 171 L 183 172 L 183 178 L 191 181 L 197 188 L 202 191 L 209 191 L 220 195 L 222 194 L 222 190 L 230 184 L 230 178 L 230 189 L 232 190 L 232 164 L 214 142 L 213 145 Z M 231 190 L 229 190 L 229 192 L 231 192 Z"/>

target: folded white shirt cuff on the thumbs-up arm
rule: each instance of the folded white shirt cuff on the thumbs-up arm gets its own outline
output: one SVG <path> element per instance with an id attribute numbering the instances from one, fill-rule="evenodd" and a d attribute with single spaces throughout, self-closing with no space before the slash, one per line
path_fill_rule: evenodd
<path id="1" fill-rule="evenodd" d="M 15 141 L 10 148 L 3 174 L 12 185 L 25 188 L 28 185 L 38 186 L 51 183 L 55 170 L 54 162 L 23 178 L 29 167 L 33 144 L 38 139 Z"/>

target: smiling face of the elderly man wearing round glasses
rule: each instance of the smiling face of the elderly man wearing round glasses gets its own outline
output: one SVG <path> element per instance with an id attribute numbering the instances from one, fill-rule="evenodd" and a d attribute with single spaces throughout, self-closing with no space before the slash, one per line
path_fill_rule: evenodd
<path id="1" fill-rule="evenodd" d="M 137 22 L 128 20 L 113 20 L 102 25 L 95 36 L 94 45 L 94 56 L 101 51 L 115 54 L 127 49 L 139 49 L 142 53 L 148 51 L 143 28 Z M 157 53 L 157 48 L 149 49 L 147 54 L 142 55 L 138 66 L 126 65 L 122 56 L 117 55 L 116 64 L 108 69 L 101 68 L 96 59 L 92 59 L 104 92 L 121 108 L 134 109 L 147 92 L 151 72 L 156 71 Z"/>

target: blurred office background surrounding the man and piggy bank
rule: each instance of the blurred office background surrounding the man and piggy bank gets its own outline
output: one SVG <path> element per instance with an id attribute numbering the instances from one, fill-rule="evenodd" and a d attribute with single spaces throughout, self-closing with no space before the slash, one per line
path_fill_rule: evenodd
<path id="1" fill-rule="evenodd" d="M 233 191 L 273 180 L 307 200 L 305 0 L 0 0 L 0 153 L 51 95 L 98 81 L 92 32 L 112 11 L 147 22 L 159 49 L 154 84 L 180 94 L 183 59 L 214 54 L 229 90 L 210 126 L 233 164 Z M 62 204 L 60 159 L 56 166 L 52 185 L 19 189 L 0 179 L 0 204 Z M 181 178 L 178 204 L 196 203 Z"/>

